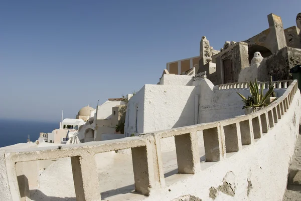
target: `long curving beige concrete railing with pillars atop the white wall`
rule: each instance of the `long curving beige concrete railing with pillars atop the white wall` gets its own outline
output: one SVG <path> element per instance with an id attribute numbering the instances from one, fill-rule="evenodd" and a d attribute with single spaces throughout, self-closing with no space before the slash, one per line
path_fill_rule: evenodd
<path id="1" fill-rule="evenodd" d="M 283 88 L 287 83 L 289 86 L 276 101 L 249 115 L 143 133 L 139 137 L 72 144 L 58 148 L 43 147 L 4 152 L 0 155 L 0 168 L 5 169 L 7 174 L 2 176 L 3 182 L 0 183 L 0 187 L 7 189 L 10 197 L 2 198 L 2 200 L 20 199 L 16 163 L 64 157 L 71 157 L 76 199 L 100 200 L 101 190 L 96 172 L 95 154 L 126 148 L 131 148 L 132 152 L 135 189 L 139 193 L 148 195 L 153 189 L 165 186 L 161 152 L 162 138 L 175 137 L 179 173 L 195 174 L 200 171 L 201 164 L 198 152 L 198 131 L 203 131 L 206 162 L 220 161 L 226 158 L 226 153 L 238 152 L 242 150 L 242 145 L 254 144 L 256 139 L 263 137 L 264 133 L 271 130 L 281 120 L 298 91 L 297 81 L 274 83 L 278 83 L 278 86 L 283 86 Z M 1 162 L 3 160 L 5 163 Z"/>

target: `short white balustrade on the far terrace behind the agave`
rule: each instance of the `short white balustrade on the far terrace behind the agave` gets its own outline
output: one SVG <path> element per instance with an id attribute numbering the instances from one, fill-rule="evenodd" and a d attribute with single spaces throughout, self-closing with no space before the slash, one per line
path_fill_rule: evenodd
<path id="1" fill-rule="evenodd" d="M 287 88 L 289 84 L 292 82 L 292 80 L 283 80 L 283 81 L 273 81 L 272 84 L 275 89 L 279 88 Z M 268 82 L 258 82 L 258 88 L 260 89 L 263 85 L 263 89 L 268 88 Z M 221 84 L 216 85 L 214 88 L 218 90 L 225 90 L 225 89 L 241 89 L 241 88 L 249 88 L 249 85 L 247 82 L 240 82 L 240 83 L 228 83 L 228 84 Z"/>

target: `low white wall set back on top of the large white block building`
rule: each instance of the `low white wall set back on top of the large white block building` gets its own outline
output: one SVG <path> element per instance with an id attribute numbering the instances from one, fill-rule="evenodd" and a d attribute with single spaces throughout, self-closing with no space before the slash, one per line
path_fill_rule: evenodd
<path id="1" fill-rule="evenodd" d="M 192 75 L 174 75 L 165 74 L 162 76 L 160 84 L 161 85 L 192 85 L 193 76 Z"/>

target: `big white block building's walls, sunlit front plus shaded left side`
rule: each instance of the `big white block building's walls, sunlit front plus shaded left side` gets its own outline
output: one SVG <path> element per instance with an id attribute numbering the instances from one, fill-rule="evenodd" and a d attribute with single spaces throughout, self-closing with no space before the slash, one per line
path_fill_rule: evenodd
<path id="1" fill-rule="evenodd" d="M 130 135 L 195 124 L 197 93 L 195 86 L 144 85 L 128 102 L 125 133 Z"/>

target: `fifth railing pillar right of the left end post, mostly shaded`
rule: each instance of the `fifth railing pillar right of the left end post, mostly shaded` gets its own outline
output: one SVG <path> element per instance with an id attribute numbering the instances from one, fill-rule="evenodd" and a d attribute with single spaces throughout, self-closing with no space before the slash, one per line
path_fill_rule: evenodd
<path id="1" fill-rule="evenodd" d="M 226 141 L 226 152 L 237 152 L 242 149 L 240 127 L 238 124 L 233 123 L 223 126 L 223 131 Z"/>

